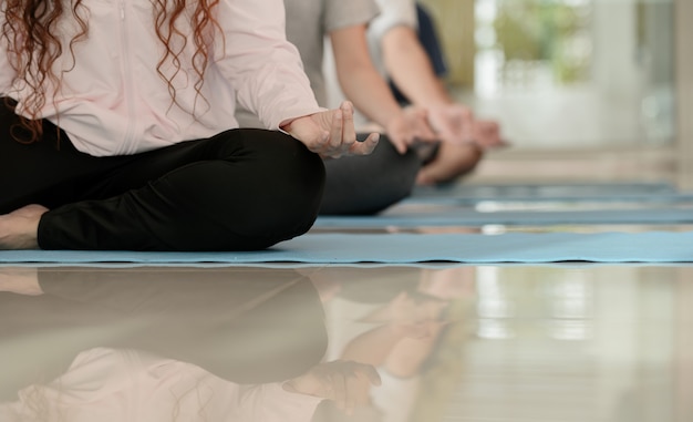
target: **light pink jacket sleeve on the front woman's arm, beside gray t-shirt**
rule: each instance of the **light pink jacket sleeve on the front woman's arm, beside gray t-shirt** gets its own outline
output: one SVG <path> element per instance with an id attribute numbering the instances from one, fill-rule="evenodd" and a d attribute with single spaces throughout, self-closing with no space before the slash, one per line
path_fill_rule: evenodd
<path id="1" fill-rule="evenodd" d="M 322 109 L 310 88 L 297 48 L 286 39 L 283 0 L 221 0 L 224 40 L 215 60 L 244 107 L 266 127 Z"/>

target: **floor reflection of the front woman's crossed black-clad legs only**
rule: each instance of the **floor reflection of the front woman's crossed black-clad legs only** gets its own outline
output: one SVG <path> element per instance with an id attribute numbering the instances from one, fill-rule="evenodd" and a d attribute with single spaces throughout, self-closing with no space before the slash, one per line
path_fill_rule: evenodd
<path id="1" fill-rule="evenodd" d="M 312 284 L 293 270 L 252 274 L 2 268 L 0 359 L 15 363 L 3 368 L 0 399 L 97 347 L 143 350 L 237 383 L 280 381 L 321 362 L 327 329 Z"/>

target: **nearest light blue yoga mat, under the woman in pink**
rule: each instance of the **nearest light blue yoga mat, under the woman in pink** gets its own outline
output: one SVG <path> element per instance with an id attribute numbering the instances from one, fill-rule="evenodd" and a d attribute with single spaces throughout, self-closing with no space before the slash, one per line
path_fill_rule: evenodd
<path id="1" fill-rule="evenodd" d="M 0 263 L 416 264 L 693 263 L 693 231 L 476 234 L 308 234 L 252 253 L 9 250 Z"/>

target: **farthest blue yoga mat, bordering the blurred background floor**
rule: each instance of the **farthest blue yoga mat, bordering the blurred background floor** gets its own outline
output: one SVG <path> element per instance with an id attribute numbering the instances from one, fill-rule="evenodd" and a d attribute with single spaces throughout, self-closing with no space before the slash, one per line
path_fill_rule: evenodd
<path id="1" fill-rule="evenodd" d="M 404 203 L 476 204 L 498 202 L 638 202 L 638 203 L 693 203 L 693 193 L 679 193 L 666 183 L 651 184 L 501 184 L 449 185 L 416 187 Z"/>

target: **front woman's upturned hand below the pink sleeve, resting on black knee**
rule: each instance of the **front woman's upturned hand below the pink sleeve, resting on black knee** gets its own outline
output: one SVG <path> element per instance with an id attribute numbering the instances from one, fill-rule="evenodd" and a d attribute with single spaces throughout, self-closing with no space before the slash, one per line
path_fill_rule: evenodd
<path id="1" fill-rule="evenodd" d="M 322 157 L 368 155 L 377 145 L 380 135 L 371 133 L 365 141 L 356 142 L 353 113 L 353 105 L 343 102 L 339 109 L 294 119 L 282 130 Z"/>

